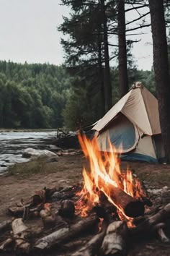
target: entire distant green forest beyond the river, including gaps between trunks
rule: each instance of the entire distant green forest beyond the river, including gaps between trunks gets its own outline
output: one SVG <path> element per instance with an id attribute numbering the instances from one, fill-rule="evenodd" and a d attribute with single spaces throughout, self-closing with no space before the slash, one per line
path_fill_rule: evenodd
<path id="1" fill-rule="evenodd" d="M 111 68 L 111 74 L 112 101 L 116 103 L 117 69 Z M 141 80 L 152 93 L 153 77 L 153 72 L 130 69 L 130 83 Z M 0 127 L 79 129 L 97 121 L 102 105 L 97 81 L 82 78 L 72 76 L 64 66 L 0 61 Z"/>

